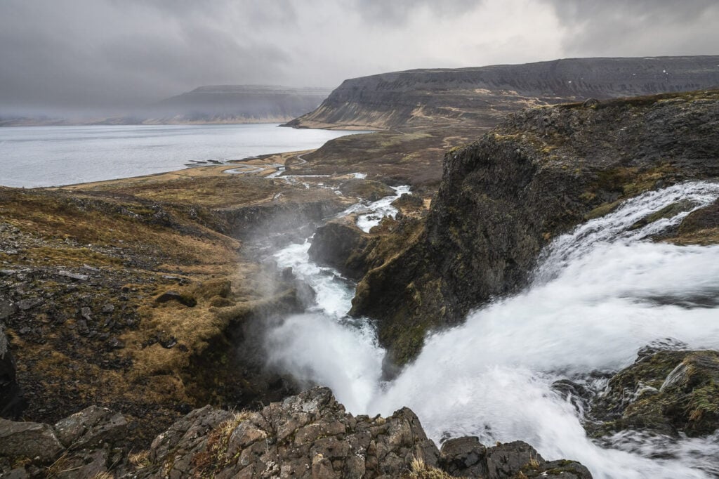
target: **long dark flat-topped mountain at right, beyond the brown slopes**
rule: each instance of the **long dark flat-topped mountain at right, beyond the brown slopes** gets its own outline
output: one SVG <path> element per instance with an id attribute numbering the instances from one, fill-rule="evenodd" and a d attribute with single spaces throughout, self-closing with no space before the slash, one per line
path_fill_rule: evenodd
<path id="1" fill-rule="evenodd" d="M 569 58 L 523 65 L 408 70 L 346 80 L 292 127 L 494 126 L 508 111 L 719 86 L 719 55 Z"/>

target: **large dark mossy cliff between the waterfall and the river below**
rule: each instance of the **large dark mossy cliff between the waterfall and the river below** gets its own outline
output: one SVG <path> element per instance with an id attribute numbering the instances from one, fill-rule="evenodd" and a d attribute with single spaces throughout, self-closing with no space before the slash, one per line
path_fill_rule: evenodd
<path id="1" fill-rule="evenodd" d="M 427 329 L 517 291 L 541 247 L 615 201 L 719 176 L 719 91 L 529 109 L 447 153 L 426 232 L 370 270 L 352 314 L 404 362 Z"/>

